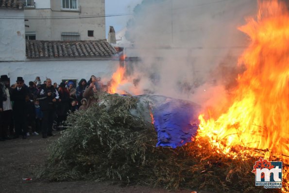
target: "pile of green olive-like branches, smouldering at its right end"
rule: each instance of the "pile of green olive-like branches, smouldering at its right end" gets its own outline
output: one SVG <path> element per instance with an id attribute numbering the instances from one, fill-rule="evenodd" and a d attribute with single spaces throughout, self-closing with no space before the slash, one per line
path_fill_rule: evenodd
<path id="1" fill-rule="evenodd" d="M 51 181 L 120 180 L 127 184 L 213 192 L 262 192 L 251 173 L 258 158 L 226 158 L 197 139 L 176 149 L 155 147 L 152 124 L 129 113 L 137 99 L 103 95 L 68 117 L 68 129 L 51 143 L 38 177 Z M 273 189 L 268 191 L 278 192 Z"/>

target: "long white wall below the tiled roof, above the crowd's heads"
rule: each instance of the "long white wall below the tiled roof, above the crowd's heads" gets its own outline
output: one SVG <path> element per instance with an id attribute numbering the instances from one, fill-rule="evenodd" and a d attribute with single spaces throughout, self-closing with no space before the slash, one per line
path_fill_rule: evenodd
<path id="1" fill-rule="evenodd" d="M 40 76 L 42 83 L 46 78 L 51 78 L 52 83 L 59 84 L 62 79 L 79 81 L 85 78 L 88 81 L 91 75 L 102 77 L 106 84 L 118 67 L 119 61 L 112 60 L 0 62 L 0 72 L 10 77 L 11 84 L 16 83 L 18 76 L 22 76 L 27 85 L 36 76 Z"/>

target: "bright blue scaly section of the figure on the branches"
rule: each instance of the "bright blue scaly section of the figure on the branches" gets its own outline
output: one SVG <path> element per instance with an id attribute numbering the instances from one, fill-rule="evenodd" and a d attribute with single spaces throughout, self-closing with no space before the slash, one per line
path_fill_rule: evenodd
<path id="1" fill-rule="evenodd" d="M 176 148 L 191 142 L 198 129 L 198 110 L 194 103 L 168 98 L 163 104 L 153 106 L 156 146 Z"/>

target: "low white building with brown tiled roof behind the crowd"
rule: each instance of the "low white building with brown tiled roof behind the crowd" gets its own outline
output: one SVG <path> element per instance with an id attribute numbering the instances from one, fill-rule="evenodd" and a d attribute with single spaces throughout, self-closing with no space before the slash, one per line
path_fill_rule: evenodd
<path id="1" fill-rule="evenodd" d="M 25 45 L 22 48 L 25 51 Z M 63 79 L 89 79 L 91 75 L 109 80 L 119 66 L 111 57 L 117 51 L 106 40 L 95 41 L 44 41 L 26 40 L 24 61 L 1 61 L 1 74 L 7 74 L 11 83 L 18 76 L 25 81 L 51 78 L 60 83 Z"/>

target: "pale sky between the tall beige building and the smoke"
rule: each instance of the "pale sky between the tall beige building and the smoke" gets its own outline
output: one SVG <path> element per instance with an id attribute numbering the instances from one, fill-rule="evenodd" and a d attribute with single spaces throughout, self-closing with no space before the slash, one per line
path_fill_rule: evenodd
<path id="1" fill-rule="evenodd" d="M 135 6 L 141 0 L 105 0 L 105 15 L 132 13 Z M 126 26 L 126 22 L 131 16 L 116 16 L 105 18 L 105 34 L 107 37 L 109 26 L 113 26 L 118 32 Z"/>

